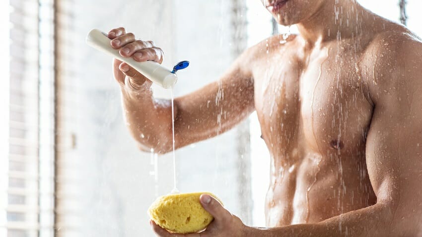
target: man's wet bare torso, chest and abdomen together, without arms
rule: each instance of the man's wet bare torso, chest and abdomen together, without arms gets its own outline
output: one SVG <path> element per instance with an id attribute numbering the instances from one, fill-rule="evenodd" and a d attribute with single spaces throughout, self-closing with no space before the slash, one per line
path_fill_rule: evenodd
<path id="1" fill-rule="evenodd" d="M 375 203 L 365 165 L 371 39 L 304 47 L 276 38 L 257 61 L 255 108 L 271 154 L 267 226 L 315 223 Z M 376 82 L 374 82 L 376 83 Z"/>

